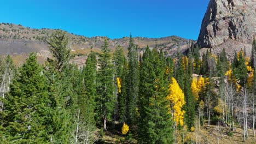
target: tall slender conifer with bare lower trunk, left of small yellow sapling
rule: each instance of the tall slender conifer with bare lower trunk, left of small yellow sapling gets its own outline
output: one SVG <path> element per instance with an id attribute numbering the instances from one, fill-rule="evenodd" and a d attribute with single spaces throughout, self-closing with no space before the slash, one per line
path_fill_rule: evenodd
<path id="1" fill-rule="evenodd" d="M 103 129 L 107 130 L 107 120 L 112 119 L 114 112 L 114 104 L 116 98 L 114 95 L 113 85 L 113 64 L 110 62 L 110 49 L 108 47 L 108 40 L 104 40 L 104 44 L 101 46 L 102 54 L 100 55 L 98 70 L 98 100 L 97 100 L 97 115 L 103 119 Z"/>

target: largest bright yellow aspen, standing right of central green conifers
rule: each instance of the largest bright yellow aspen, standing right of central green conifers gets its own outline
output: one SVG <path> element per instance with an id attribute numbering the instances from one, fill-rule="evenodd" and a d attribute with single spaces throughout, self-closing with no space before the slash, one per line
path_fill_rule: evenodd
<path id="1" fill-rule="evenodd" d="M 174 77 L 172 77 L 172 83 L 168 88 L 168 92 L 167 100 L 171 101 L 171 112 L 173 113 L 174 122 L 176 122 L 176 125 L 180 124 L 183 126 L 185 113 L 185 111 L 182 110 L 183 105 L 185 105 L 184 93 Z"/>

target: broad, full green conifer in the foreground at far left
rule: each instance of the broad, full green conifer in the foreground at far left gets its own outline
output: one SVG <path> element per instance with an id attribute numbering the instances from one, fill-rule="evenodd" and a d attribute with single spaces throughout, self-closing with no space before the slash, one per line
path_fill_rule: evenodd
<path id="1" fill-rule="evenodd" d="M 31 53 L 19 69 L 18 76 L 10 85 L 10 92 L 4 99 L 4 121 L 6 128 L 3 141 L 15 143 L 47 143 L 45 129 L 48 121 L 49 96 L 42 67 L 36 54 Z"/>

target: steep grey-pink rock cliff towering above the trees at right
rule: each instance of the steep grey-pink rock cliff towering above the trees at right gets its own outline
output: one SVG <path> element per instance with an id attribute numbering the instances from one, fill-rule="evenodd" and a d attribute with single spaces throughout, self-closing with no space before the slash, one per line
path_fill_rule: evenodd
<path id="1" fill-rule="evenodd" d="M 205 48 L 228 45 L 236 50 L 251 49 L 255 35 L 256 0 L 211 0 L 197 44 Z"/>

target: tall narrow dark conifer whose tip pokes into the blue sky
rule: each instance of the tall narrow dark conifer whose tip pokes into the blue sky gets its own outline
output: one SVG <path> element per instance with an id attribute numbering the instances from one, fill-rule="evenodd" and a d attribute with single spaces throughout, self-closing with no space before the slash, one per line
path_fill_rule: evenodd
<path id="1" fill-rule="evenodd" d="M 138 64 L 138 50 L 137 46 L 133 43 L 132 36 L 130 35 L 129 47 L 129 73 L 127 80 L 127 123 L 131 125 L 136 121 L 136 107 L 138 101 L 138 82 L 139 82 L 139 64 Z"/>

